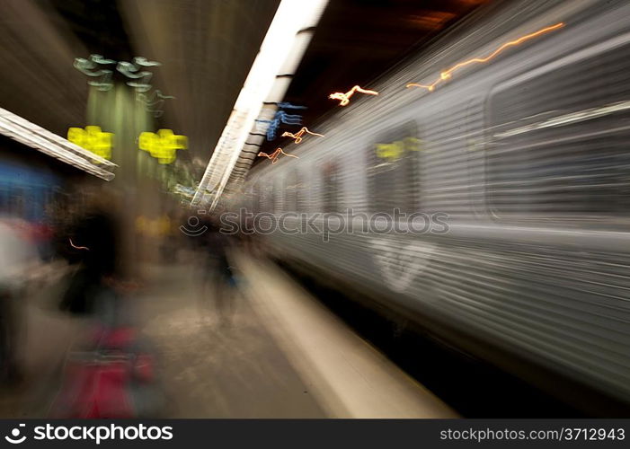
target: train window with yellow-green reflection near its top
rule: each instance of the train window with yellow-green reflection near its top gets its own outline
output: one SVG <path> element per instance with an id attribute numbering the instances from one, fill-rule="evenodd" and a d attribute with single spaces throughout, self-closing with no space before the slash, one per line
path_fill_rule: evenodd
<path id="1" fill-rule="evenodd" d="M 368 151 L 368 190 L 372 212 L 395 208 L 413 213 L 418 186 L 416 161 L 421 140 L 413 122 L 377 137 Z"/>

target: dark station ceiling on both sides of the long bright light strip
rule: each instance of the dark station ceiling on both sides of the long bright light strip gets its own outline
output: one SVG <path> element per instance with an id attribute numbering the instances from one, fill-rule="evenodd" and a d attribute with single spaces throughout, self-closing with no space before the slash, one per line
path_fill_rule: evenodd
<path id="1" fill-rule="evenodd" d="M 158 128 L 189 136 L 184 157 L 209 161 L 279 0 L 3 0 L 0 107 L 65 136 L 84 127 L 88 86 L 75 57 L 141 56 L 176 97 Z M 289 86 L 305 123 L 330 92 L 367 84 L 484 0 L 331 0 Z M 263 145 L 277 145 L 270 142 Z"/>

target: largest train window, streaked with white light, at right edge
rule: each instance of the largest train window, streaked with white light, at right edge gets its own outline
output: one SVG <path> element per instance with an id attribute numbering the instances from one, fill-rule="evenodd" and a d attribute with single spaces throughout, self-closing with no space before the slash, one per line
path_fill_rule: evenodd
<path id="1" fill-rule="evenodd" d="M 486 189 L 497 216 L 628 214 L 628 54 L 572 58 L 492 92 Z"/>

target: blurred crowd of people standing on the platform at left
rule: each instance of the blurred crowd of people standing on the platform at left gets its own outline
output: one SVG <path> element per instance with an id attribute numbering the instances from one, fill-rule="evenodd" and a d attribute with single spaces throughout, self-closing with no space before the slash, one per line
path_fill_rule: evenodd
<path id="1" fill-rule="evenodd" d="M 47 204 L 38 221 L 7 209 L 0 216 L 0 388 L 37 382 L 23 369 L 24 335 L 32 331 L 24 316 L 34 289 L 48 289 L 62 279 L 51 309 L 86 324 L 59 367 L 58 394 L 48 415 L 157 416 L 161 395 L 155 354 L 129 307 L 146 283 L 138 266 L 175 266 L 182 257 L 194 258 L 204 273 L 200 300 L 212 306 L 217 322 L 229 326 L 237 282 L 229 254 L 239 243 L 220 233 L 214 218 L 203 217 L 207 232 L 193 237 L 179 230 L 187 218 L 183 211 L 140 215 L 130 220 L 134 247 L 144 244 L 155 256 L 141 260 L 138 251 L 125 248 L 124 200 L 101 189 L 84 193 L 81 201 L 67 197 Z"/>

